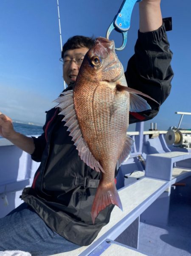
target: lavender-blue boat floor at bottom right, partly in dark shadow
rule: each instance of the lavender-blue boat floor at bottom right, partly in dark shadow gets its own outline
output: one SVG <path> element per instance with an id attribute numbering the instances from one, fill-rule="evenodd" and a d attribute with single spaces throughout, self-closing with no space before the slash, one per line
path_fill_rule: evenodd
<path id="1" fill-rule="evenodd" d="M 182 193 L 184 190 L 188 191 L 186 198 Z M 169 223 L 166 226 L 140 222 L 138 250 L 154 256 L 191 256 L 190 186 L 176 187 L 171 192 Z"/>

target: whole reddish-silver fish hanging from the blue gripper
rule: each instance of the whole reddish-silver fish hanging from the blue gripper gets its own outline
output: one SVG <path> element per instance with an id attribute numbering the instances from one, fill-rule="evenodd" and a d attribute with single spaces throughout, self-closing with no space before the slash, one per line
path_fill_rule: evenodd
<path id="1" fill-rule="evenodd" d="M 81 160 L 101 172 L 91 210 L 93 224 L 108 205 L 123 209 L 115 186 L 115 168 L 132 150 L 133 140 L 126 135 L 129 111 L 151 109 L 139 95 L 152 99 L 127 86 L 114 41 L 98 37 L 84 56 L 74 89 L 56 100 Z"/>

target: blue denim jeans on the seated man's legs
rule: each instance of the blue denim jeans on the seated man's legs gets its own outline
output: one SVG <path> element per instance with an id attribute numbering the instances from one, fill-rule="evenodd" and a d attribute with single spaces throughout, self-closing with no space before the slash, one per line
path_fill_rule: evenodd
<path id="1" fill-rule="evenodd" d="M 26 203 L 0 219 L 0 251 L 22 250 L 32 256 L 48 256 L 79 247 L 51 230 Z"/>

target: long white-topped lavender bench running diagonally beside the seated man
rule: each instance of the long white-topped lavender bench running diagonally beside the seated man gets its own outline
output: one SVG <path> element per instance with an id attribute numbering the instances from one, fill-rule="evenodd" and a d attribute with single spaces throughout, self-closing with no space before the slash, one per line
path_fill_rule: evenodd
<path id="1" fill-rule="evenodd" d="M 141 178 L 140 180 L 136 181 L 131 185 L 122 188 L 121 190 L 118 190 L 124 210 L 121 211 L 118 207 L 114 207 L 111 214 L 110 222 L 101 229 L 100 233 L 92 244 L 90 244 L 89 246 L 82 246 L 73 251 L 59 253 L 56 254 L 56 256 L 91 255 L 90 253 L 92 253 L 96 248 L 98 248 L 100 244 L 102 244 L 107 239 L 115 240 L 120 237 L 121 233 L 125 232 L 127 227 L 129 227 L 132 223 L 134 223 L 134 227 L 131 230 L 132 236 L 126 237 L 126 239 L 127 241 L 128 239 L 134 239 L 135 241 L 133 242 L 138 247 L 139 216 L 166 190 L 167 187 L 169 187 L 169 181 L 145 177 Z M 133 248 L 129 250 L 133 250 Z M 138 253 L 137 251 L 135 252 Z M 108 254 L 105 255 L 111 254 L 108 252 Z M 117 254 L 115 252 L 115 256 L 116 255 Z M 121 255 L 123 254 L 120 254 L 120 256 Z M 129 255 L 132 256 L 133 254 Z"/>

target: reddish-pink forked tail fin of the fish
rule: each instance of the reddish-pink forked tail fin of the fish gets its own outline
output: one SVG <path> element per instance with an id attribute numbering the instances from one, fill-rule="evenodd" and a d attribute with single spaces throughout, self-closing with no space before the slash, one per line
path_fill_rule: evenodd
<path id="1" fill-rule="evenodd" d="M 97 188 L 92 205 L 91 215 L 93 224 L 95 223 L 95 219 L 98 216 L 99 212 L 101 212 L 101 210 L 104 210 L 110 204 L 115 204 L 121 210 L 123 210 L 118 191 L 115 187 L 115 182 L 113 182 L 110 187 L 103 186 L 100 183 Z"/>

